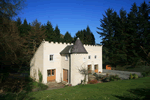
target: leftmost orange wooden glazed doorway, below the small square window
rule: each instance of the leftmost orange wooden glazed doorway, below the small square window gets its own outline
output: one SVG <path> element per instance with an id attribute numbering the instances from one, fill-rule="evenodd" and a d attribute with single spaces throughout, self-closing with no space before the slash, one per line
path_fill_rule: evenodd
<path id="1" fill-rule="evenodd" d="M 56 69 L 47 70 L 47 82 L 55 81 Z"/>

